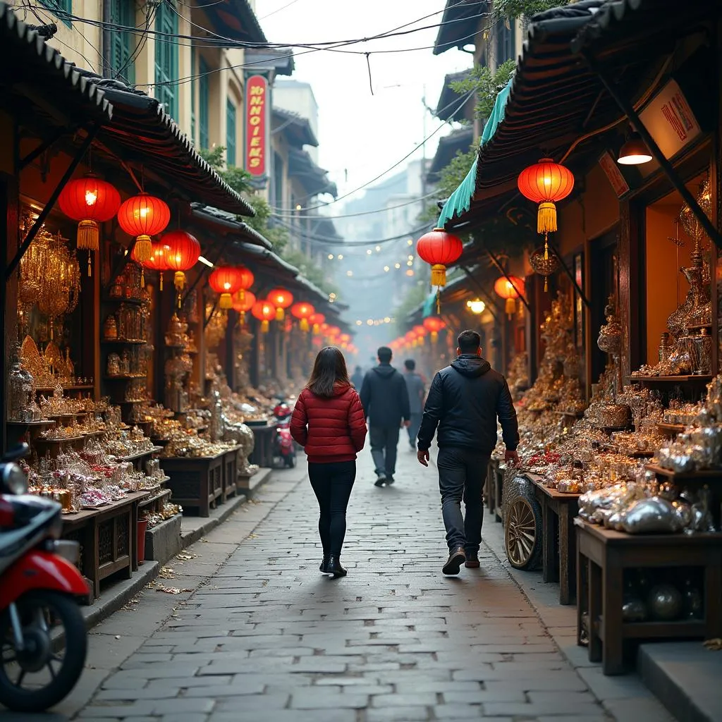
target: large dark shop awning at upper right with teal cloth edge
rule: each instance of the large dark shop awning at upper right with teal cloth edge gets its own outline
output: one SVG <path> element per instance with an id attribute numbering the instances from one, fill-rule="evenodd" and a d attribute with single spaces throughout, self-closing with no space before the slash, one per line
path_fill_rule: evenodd
<path id="1" fill-rule="evenodd" d="M 661 58 L 709 17 L 714 4 L 690 0 L 580 0 L 533 17 L 515 77 L 497 97 L 479 156 L 445 204 L 438 225 L 458 227 L 495 214 L 516 193 L 516 178 L 539 157 L 573 162 L 599 152 L 599 135 L 624 121 L 576 50 L 599 43 L 598 61 L 619 92 L 636 101 L 653 84 Z M 573 144 L 578 145 L 573 147 Z"/>

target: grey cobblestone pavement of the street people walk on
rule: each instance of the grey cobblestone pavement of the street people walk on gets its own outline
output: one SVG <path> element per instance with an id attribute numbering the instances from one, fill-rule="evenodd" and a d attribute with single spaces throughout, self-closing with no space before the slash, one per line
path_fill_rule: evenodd
<path id="1" fill-rule="evenodd" d="M 96 630 L 87 703 L 58 719 L 614 719 L 488 547 L 480 570 L 441 575 L 435 469 L 403 442 L 393 487 L 374 487 L 370 453 L 360 456 L 347 578 L 318 572 L 303 468 L 247 507 Z M 158 593 L 165 585 L 194 591 Z"/>

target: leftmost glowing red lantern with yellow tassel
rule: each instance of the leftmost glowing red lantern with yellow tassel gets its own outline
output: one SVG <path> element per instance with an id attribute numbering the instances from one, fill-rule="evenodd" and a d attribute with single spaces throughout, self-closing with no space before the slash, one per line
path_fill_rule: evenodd
<path id="1" fill-rule="evenodd" d="M 97 251 L 98 223 L 109 221 L 121 206 L 121 194 L 108 181 L 88 174 L 67 183 L 58 196 L 58 206 L 78 224 L 78 248 Z"/>

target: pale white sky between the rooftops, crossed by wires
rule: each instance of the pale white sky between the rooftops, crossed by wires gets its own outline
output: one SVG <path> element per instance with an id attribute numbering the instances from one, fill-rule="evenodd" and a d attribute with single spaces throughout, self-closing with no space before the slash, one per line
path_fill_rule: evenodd
<path id="1" fill-rule="evenodd" d="M 256 14 L 269 41 L 319 43 L 363 38 L 443 11 L 445 5 L 444 0 L 295 0 L 288 5 L 291 1 L 256 0 Z M 403 30 L 435 25 L 441 17 L 438 12 Z M 365 52 L 422 48 L 434 44 L 437 32 L 432 27 L 345 49 Z M 425 137 L 425 127 L 426 134 L 430 134 L 440 121 L 424 112 L 424 89 L 427 105 L 435 108 L 445 74 L 471 65 L 471 55 L 455 49 L 440 56 L 434 56 L 431 48 L 372 53 L 371 95 L 364 55 L 303 52 L 295 51 L 292 77 L 313 86 L 319 106 L 319 163 L 329 170 L 339 194 L 370 181 L 406 155 Z M 427 157 L 434 155 L 438 138 L 448 130 L 447 126 L 427 143 Z M 421 155 L 419 149 L 409 160 Z M 327 213 L 342 212 L 343 203 L 331 204 Z"/>

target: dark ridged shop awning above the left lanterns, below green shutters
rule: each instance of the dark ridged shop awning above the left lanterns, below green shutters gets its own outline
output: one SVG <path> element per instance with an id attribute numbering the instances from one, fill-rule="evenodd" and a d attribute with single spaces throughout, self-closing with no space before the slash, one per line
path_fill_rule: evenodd
<path id="1" fill-rule="evenodd" d="M 113 104 L 113 118 L 98 140 L 118 157 L 160 175 L 170 189 L 189 201 L 243 216 L 255 214 L 248 201 L 201 158 L 162 103 L 119 80 L 87 70 L 79 72 Z"/>

